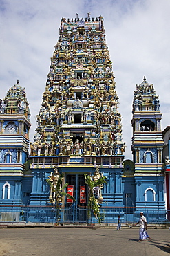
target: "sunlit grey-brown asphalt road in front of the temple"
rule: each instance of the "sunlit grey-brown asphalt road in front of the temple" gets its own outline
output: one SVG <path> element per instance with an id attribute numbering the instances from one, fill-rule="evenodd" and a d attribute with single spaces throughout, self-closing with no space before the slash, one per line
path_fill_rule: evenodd
<path id="1" fill-rule="evenodd" d="M 148 233 L 152 241 L 138 243 L 136 228 L 1 228 L 0 255 L 169 255 L 169 229 L 149 229 Z"/>

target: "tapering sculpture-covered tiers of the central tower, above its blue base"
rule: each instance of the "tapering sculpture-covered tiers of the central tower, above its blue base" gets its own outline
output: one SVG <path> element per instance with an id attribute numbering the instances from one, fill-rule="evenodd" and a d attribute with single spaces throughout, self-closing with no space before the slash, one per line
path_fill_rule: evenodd
<path id="1" fill-rule="evenodd" d="M 61 21 L 42 107 L 36 116 L 36 132 L 44 131 L 39 138 L 43 147 L 36 149 L 36 154 L 112 156 L 125 151 L 103 17 L 90 22 Z M 78 132 L 73 142 L 74 131 Z M 35 147 L 39 140 L 34 141 Z"/>

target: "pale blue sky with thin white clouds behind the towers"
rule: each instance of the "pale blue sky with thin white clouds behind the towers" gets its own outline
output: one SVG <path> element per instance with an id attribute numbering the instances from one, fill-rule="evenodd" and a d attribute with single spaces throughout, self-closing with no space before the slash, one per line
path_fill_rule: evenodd
<path id="1" fill-rule="evenodd" d="M 0 0 L 0 98 L 19 79 L 30 103 L 33 141 L 61 18 L 72 19 L 76 13 L 85 18 L 88 12 L 104 18 L 123 117 L 125 158 L 132 159 L 132 102 L 144 76 L 159 95 L 162 131 L 170 125 L 168 0 Z"/>

